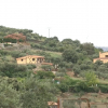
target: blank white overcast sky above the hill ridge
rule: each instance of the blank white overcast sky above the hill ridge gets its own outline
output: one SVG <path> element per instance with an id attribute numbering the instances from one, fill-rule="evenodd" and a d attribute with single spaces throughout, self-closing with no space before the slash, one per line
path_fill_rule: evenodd
<path id="1" fill-rule="evenodd" d="M 108 46 L 108 0 L 0 0 L 0 25 Z"/>

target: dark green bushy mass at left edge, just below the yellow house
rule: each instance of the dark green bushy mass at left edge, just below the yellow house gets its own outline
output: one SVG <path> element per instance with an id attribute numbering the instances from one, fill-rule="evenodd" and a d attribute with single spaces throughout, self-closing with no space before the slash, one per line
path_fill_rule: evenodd
<path id="1" fill-rule="evenodd" d="M 28 68 L 25 65 L 17 65 L 15 63 L 1 63 L 0 66 L 2 66 L 0 67 L 0 76 L 3 77 L 26 77 L 28 75 Z"/>

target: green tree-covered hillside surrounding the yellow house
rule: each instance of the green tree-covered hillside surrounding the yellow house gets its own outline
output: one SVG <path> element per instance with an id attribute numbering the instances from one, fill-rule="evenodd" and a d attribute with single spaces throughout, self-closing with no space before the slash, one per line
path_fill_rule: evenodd
<path id="1" fill-rule="evenodd" d="M 46 103 L 56 100 L 56 97 L 64 92 L 98 92 L 99 90 L 104 93 L 108 92 L 108 63 L 103 64 L 97 60 L 93 64 L 93 58 L 98 57 L 99 52 L 103 52 L 93 43 L 80 43 L 79 40 L 72 39 L 59 41 L 57 37 L 42 37 L 29 29 L 0 26 L 0 39 L 12 33 L 26 36 L 30 48 L 22 42 L 17 48 L 8 44 L 5 48 L 0 46 L 0 96 L 3 96 L 3 99 L 0 99 L 2 102 L 0 108 L 36 108 L 35 106 L 48 108 Z M 45 62 L 53 63 L 53 66 L 42 66 L 42 70 L 37 71 L 36 75 L 33 69 L 37 69 L 37 65 L 16 64 L 17 57 L 26 55 L 44 56 Z M 49 70 L 56 70 L 56 73 L 53 75 Z M 69 71 L 75 73 L 73 78 L 67 76 Z M 38 100 L 42 104 L 38 104 Z"/>

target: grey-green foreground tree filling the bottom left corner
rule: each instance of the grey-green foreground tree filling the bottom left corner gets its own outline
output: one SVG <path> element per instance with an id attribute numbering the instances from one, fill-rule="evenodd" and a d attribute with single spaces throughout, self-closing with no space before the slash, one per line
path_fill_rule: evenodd
<path id="1" fill-rule="evenodd" d="M 13 89 L 5 79 L 0 78 L 0 108 L 21 108 L 19 92 Z"/>

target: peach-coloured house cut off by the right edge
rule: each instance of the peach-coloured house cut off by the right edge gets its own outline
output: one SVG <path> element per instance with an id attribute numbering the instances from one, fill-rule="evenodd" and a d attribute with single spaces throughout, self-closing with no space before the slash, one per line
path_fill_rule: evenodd
<path id="1" fill-rule="evenodd" d="M 108 63 L 108 52 L 105 52 L 105 53 L 99 52 L 99 57 L 94 58 L 93 63 L 96 63 L 96 60 L 102 60 L 103 63 Z"/>

